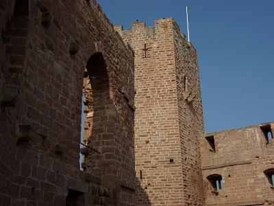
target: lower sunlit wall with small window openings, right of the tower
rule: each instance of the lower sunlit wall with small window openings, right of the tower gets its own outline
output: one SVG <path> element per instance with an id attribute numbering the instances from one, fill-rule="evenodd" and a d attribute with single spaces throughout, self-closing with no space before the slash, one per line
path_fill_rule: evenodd
<path id="1" fill-rule="evenodd" d="M 273 185 L 264 171 L 274 168 L 274 142 L 267 144 L 264 128 L 274 123 L 206 134 L 214 137 L 215 152 L 201 137 L 201 161 L 206 205 L 274 205 Z M 207 177 L 222 176 L 221 190 L 214 190 Z"/>

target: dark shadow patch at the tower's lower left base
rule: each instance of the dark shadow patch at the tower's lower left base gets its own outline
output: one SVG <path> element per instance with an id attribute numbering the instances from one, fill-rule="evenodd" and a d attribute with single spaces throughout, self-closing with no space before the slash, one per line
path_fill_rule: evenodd
<path id="1" fill-rule="evenodd" d="M 136 205 L 152 205 L 149 200 L 149 195 L 147 192 L 149 191 L 149 185 L 145 185 L 136 177 Z"/>

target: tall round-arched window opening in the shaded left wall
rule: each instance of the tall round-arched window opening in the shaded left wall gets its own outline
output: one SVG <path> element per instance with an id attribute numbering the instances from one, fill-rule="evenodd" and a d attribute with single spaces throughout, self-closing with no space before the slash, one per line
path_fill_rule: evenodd
<path id="1" fill-rule="evenodd" d="M 86 64 L 83 96 L 82 141 L 86 148 L 82 149 L 82 168 L 94 174 L 107 174 L 110 163 L 103 161 L 114 154 L 115 110 L 110 99 L 108 71 L 101 53 L 93 54 Z"/>

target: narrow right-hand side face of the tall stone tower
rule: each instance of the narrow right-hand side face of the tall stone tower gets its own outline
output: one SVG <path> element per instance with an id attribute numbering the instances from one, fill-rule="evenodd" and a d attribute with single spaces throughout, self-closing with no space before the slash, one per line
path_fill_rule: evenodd
<path id="1" fill-rule="evenodd" d="M 203 108 L 196 49 L 174 24 L 177 104 L 181 143 L 184 204 L 204 205 L 199 137 Z"/>

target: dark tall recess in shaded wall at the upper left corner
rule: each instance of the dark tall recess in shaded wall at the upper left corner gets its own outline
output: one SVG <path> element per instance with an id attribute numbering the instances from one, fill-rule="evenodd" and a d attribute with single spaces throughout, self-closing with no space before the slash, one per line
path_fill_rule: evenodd
<path id="1" fill-rule="evenodd" d="M 29 23 L 29 1 L 16 0 L 12 19 L 3 32 L 5 47 L 5 81 L 19 85 L 25 65 L 27 28 Z"/>

